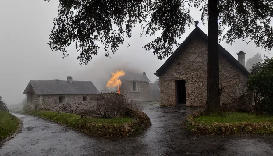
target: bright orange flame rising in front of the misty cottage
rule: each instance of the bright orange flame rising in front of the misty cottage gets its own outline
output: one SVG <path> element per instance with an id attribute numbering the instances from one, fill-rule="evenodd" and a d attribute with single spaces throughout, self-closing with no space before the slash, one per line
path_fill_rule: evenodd
<path id="1" fill-rule="evenodd" d="M 125 72 L 123 70 L 117 70 L 115 73 L 111 73 L 112 77 L 110 80 L 108 80 L 106 87 L 112 88 L 112 87 L 117 87 L 118 86 L 118 93 L 120 94 L 119 91 L 119 86 L 121 85 L 121 80 L 119 77 L 124 76 Z"/>

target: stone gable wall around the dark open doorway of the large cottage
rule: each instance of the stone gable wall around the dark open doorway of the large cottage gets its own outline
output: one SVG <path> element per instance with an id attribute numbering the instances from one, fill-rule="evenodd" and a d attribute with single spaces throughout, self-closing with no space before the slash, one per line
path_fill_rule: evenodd
<path id="1" fill-rule="evenodd" d="M 176 80 L 186 81 L 186 105 L 205 106 L 207 97 L 207 43 L 194 37 L 172 64 L 159 76 L 160 105 L 176 105 Z M 247 77 L 219 54 L 221 105 L 246 94 Z"/>

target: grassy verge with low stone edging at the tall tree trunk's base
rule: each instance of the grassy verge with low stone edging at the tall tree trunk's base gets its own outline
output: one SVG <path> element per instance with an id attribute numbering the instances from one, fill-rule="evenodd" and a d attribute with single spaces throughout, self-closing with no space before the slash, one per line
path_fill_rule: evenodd
<path id="1" fill-rule="evenodd" d="M 201 134 L 265 134 L 273 133 L 273 116 L 247 113 L 227 113 L 222 116 L 200 116 L 193 112 L 187 116 L 187 128 Z"/>

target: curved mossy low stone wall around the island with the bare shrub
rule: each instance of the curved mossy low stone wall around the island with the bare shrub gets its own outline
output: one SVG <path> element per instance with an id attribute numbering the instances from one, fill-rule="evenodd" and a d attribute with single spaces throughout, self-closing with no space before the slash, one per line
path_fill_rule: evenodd
<path id="1" fill-rule="evenodd" d="M 39 115 L 39 112 L 37 111 L 27 111 L 26 113 L 43 118 L 43 116 L 41 114 Z M 64 124 L 75 130 L 90 134 L 92 136 L 107 138 L 126 137 L 141 132 L 151 126 L 150 118 L 143 111 L 128 108 L 128 114 L 129 117 L 133 118 L 133 120 L 131 122 L 123 123 L 122 125 L 90 122 L 90 120 L 87 119 L 89 117 L 73 119 L 73 121 L 68 120 L 68 122 L 65 123 L 60 123 L 56 121 L 56 118 L 53 118 L 53 120 L 51 120 L 50 116 L 48 115 L 48 118 L 43 119 L 48 119 L 50 121 Z M 73 124 L 70 124 L 69 122 L 73 122 Z"/>

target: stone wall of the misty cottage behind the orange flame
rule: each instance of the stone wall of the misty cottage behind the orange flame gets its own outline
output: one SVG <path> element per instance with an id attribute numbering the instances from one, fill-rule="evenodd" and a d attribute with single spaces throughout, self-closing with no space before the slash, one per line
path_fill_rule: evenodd
<path id="1" fill-rule="evenodd" d="M 122 81 L 120 86 L 120 93 L 127 94 L 129 98 L 138 101 L 146 101 L 151 99 L 149 94 L 149 83 L 148 82 L 137 82 L 138 83 L 138 91 L 132 92 L 132 82 L 130 81 Z"/>

